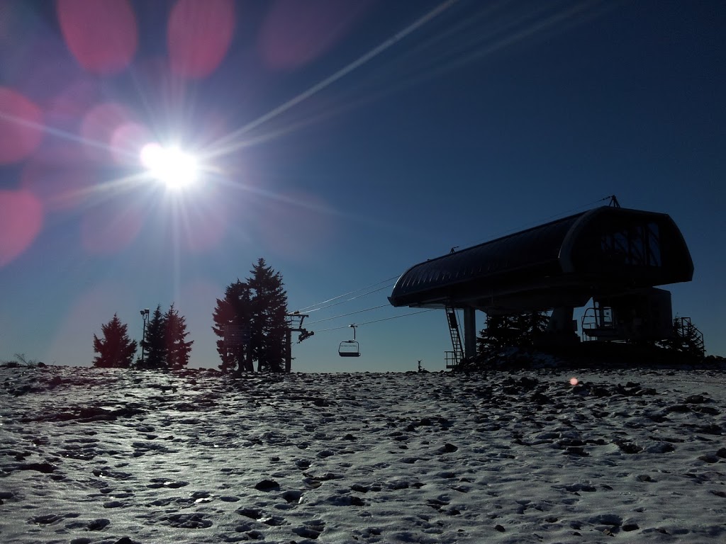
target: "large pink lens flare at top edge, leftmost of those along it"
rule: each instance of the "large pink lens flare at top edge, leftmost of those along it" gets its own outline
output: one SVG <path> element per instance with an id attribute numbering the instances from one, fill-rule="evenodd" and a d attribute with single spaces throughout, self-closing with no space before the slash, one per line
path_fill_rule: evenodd
<path id="1" fill-rule="evenodd" d="M 57 0 L 56 9 L 65 44 L 85 70 L 110 75 L 131 63 L 139 38 L 128 0 Z"/>

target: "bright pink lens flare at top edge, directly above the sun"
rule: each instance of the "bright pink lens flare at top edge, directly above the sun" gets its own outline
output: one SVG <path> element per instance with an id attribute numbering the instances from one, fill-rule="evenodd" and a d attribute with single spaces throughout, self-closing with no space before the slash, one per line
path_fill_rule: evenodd
<path id="1" fill-rule="evenodd" d="M 205 78 L 224 59 L 234 36 L 232 0 L 177 0 L 168 20 L 171 71 Z"/>

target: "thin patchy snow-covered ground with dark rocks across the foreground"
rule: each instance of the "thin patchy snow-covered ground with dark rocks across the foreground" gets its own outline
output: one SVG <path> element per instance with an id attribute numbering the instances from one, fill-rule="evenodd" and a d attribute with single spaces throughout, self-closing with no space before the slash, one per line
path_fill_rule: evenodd
<path id="1" fill-rule="evenodd" d="M 0 368 L 0 542 L 725 542 L 725 381 Z"/>

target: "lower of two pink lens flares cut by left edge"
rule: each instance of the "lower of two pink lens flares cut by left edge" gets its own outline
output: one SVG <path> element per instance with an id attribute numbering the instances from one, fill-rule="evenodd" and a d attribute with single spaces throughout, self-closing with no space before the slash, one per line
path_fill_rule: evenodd
<path id="1" fill-rule="evenodd" d="M 33 244 L 43 227 L 43 206 L 30 191 L 0 191 L 0 266 Z"/>

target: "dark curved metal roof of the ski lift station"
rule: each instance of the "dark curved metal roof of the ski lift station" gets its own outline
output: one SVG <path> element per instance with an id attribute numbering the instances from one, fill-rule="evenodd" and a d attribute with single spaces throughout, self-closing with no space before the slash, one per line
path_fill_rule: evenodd
<path id="1" fill-rule="evenodd" d="M 690 252 L 669 215 L 604 206 L 414 265 L 388 300 L 535 310 L 692 277 Z"/>

